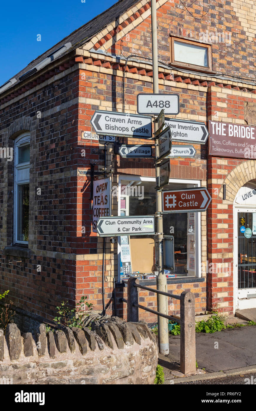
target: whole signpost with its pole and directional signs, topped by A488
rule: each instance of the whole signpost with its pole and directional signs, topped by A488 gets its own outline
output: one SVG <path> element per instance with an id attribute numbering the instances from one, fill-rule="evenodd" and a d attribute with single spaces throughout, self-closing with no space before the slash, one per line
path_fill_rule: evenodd
<path id="1" fill-rule="evenodd" d="M 156 0 L 151 0 L 151 26 L 153 94 L 138 95 L 137 111 L 140 113 L 138 115 L 96 110 L 92 116 L 91 124 L 97 134 L 106 135 L 108 138 L 120 136 L 152 139 L 151 117 L 141 114 L 158 115 L 154 120 L 157 183 L 155 187 L 157 197 L 155 215 L 110 217 L 104 214 L 103 217 L 101 211 L 97 221 L 97 233 L 104 238 L 108 236 L 157 235 L 155 245 L 158 254 L 157 290 L 163 293 L 157 293 L 157 311 L 167 318 L 168 301 L 164 295 L 167 292 L 167 279 L 164 273 L 163 212 L 204 211 L 207 209 L 211 197 L 208 191 L 202 187 L 191 190 L 162 191 L 162 188 L 169 183 L 171 173 L 170 158 L 166 158 L 166 156 L 172 156 L 171 153 L 174 150 L 172 157 L 194 157 L 195 149 L 193 146 L 172 148 L 171 140 L 204 144 L 208 138 L 208 130 L 203 122 L 165 118 L 165 114 L 175 115 L 179 113 L 179 96 L 178 94 L 159 94 Z M 165 129 L 162 130 L 164 125 Z M 89 136 L 85 136 L 84 132 L 83 138 L 89 138 Z M 152 157 L 152 147 L 150 145 L 122 144 L 119 147 L 119 154 L 124 158 Z M 97 196 L 95 198 L 97 200 Z M 157 232 L 155 218 L 157 218 Z M 172 261 L 169 259 L 165 263 L 172 266 L 173 261 L 174 254 Z M 168 320 L 166 318 L 158 316 L 159 352 L 163 355 L 169 353 Z"/>

